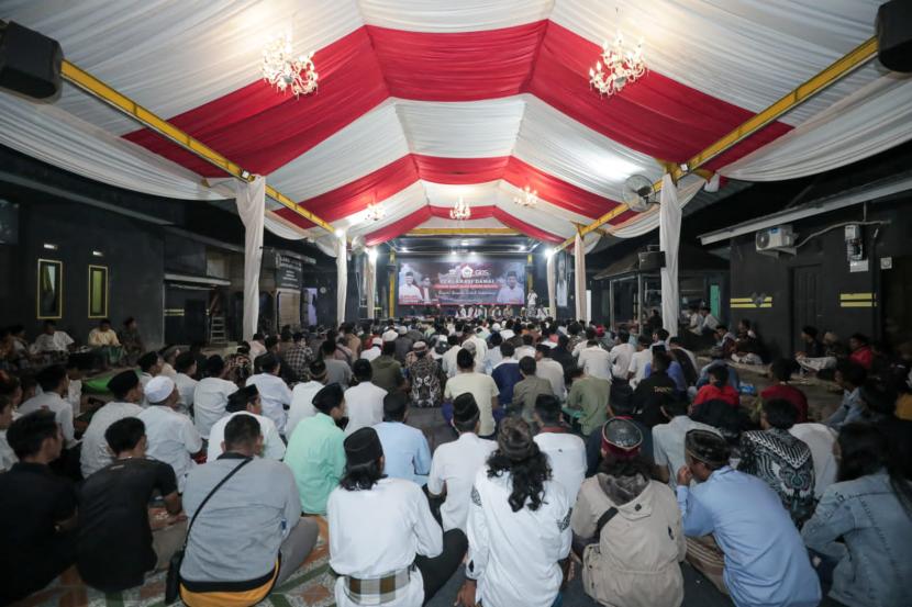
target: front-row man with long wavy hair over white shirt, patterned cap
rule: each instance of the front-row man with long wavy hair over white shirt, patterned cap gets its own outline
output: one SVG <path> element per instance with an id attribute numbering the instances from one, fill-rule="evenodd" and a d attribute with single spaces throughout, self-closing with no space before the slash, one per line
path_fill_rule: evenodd
<path id="1" fill-rule="evenodd" d="M 471 490 L 467 580 L 456 603 L 559 605 L 572 538 L 571 504 L 552 480 L 548 458 L 529 424 L 504 419 L 497 443 Z"/>

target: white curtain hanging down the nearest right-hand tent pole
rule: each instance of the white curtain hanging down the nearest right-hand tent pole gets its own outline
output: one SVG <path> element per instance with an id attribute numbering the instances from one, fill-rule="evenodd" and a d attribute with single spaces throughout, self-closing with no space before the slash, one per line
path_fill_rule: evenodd
<path id="1" fill-rule="evenodd" d="M 659 249 L 665 251 L 665 267 L 661 269 L 661 321 L 665 329 L 678 335 L 680 294 L 678 285 L 678 246 L 681 240 L 681 206 L 678 203 L 678 188 L 670 175 L 661 178 L 659 199 Z"/>

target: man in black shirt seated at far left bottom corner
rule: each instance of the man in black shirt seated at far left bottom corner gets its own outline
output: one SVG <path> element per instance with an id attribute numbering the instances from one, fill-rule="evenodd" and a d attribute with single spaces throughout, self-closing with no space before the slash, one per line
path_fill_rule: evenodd
<path id="1" fill-rule="evenodd" d="M 0 474 L 0 605 L 42 589 L 76 560 L 76 490 L 48 468 L 64 447 L 54 413 L 23 415 L 7 440 L 19 462 Z"/>

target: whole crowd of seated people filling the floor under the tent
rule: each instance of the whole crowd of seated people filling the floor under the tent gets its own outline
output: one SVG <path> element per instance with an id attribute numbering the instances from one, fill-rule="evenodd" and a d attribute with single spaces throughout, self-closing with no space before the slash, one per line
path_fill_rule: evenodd
<path id="1" fill-rule="evenodd" d="M 416 607 L 461 564 L 465 607 L 559 605 L 575 575 L 600 605 L 672 606 L 683 561 L 737 606 L 912 605 L 912 348 L 878 366 L 856 336 L 826 419 L 791 383 L 799 362 L 775 360 L 749 411 L 730 362 L 756 334 L 712 321 L 705 366 L 658 322 L 346 323 L 257 334 L 227 358 L 137 351 L 99 326 L 103 364 L 120 347 L 135 367 L 85 428 L 71 361 L 0 375 L 0 515 L 16 521 L 0 603 L 73 565 L 124 591 L 182 553 L 187 605 L 254 605 L 322 516 L 344 606 Z M 57 334 L 42 347 L 69 351 Z M 429 408 L 452 426 L 434 450 L 409 423 Z"/>

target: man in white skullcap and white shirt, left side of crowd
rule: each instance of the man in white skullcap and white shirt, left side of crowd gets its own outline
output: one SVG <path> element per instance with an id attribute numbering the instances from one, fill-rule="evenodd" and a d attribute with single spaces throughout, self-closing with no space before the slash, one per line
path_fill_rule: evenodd
<path id="1" fill-rule="evenodd" d="M 183 493 L 187 474 L 197 465 L 191 456 L 202 449 L 202 438 L 193 421 L 175 411 L 180 395 L 174 380 L 165 375 L 153 378 L 145 392 L 149 406 L 137 417 L 146 425 L 146 454 L 174 469 L 177 490 Z"/>

